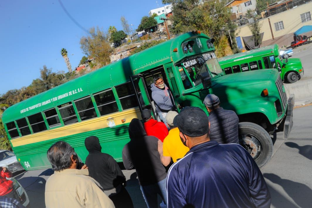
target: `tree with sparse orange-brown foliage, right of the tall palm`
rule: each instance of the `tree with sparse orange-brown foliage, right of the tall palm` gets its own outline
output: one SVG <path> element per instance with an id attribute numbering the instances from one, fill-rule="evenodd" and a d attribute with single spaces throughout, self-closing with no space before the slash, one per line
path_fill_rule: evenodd
<path id="1" fill-rule="evenodd" d="M 112 48 L 105 33 L 99 27 L 90 28 L 89 35 L 80 38 L 80 48 L 90 58 L 102 66 L 110 63 L 110 53 Z"/>

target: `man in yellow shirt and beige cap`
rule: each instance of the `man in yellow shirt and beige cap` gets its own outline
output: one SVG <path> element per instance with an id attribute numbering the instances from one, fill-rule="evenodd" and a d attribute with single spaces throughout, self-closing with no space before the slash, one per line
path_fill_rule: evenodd
<path id="1" fill-rule="evenodd" d="M 168 136 L 163 140 L 163 143 L 158 140 L 158 152 L 160 160 L 164 166 L 170 164 L 171 158 L 173 162 L 184 157 L 189 148 L 184 146 L 180 139 L 180 131 L 178 127 L 173 125 L 173 119 L 178 115 L 175 111 L 169 111 L 166 116 L 167 124 L 170 127 Z"/>

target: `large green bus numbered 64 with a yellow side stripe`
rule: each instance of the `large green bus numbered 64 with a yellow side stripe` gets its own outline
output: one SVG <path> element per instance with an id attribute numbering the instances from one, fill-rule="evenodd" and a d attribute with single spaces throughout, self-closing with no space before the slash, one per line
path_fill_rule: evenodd
<path id="1" fill-rule="evenodd" d="M 203 99 L 216 94 L 240 119 L 241 145 L 265 165 L 273 150 L 269 134 L 290 133 L 293 98 L 275 69 L 224 76 L 213 42 L 199 31 L 185 33 L 10 106 L 2 120 L 18 161 L 26 170 L 51 167 L 46 152 L 59 140 L 85 161 L 84 140 L 95 135 L 102 151 L 121 162 L 131 119 L 141 119 L 142 109 L 157 116 L 150 85 L 161 75 L 178 112 L 184 106 L 207 112 Z"/>

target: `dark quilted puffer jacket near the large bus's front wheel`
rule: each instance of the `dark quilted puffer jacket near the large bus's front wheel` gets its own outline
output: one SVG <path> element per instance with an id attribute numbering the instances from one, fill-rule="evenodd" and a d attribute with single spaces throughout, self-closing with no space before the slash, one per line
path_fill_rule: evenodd
<path id="1" fill-rule="evenodd" d="M 209 114 L 210 140 L 219 144 L 238 144 L 238 117 L 232 110 L 217 108 Z"/>

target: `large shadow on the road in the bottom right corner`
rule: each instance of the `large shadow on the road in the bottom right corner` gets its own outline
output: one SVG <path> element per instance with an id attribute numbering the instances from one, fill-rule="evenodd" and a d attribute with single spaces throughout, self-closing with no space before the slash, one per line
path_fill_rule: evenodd
<path id="1" fill-rule="evenodd" d="M 285 192 L 300 207 L 311 207 L 312 190 L 307 185 L 294 182 L 292 180 L 282 179 L 280 178 L 280 176 L 272 173 L 265 173 L 263 174 L 263 176 L 266 179 L 271 180 L 273 183 L 282 186 Z M 271 196 L 272 196 L 272 204 L 275 207 L 292 207 L 290 206 L 290 204 L 292 203 L 289 200 L 287 200 L 284 196 L 282 196 L 272 187 L 270 188 L 271 188 L 270 191 L 271 190 L 273 191 L 273 193 L 271 192 Z"/>

